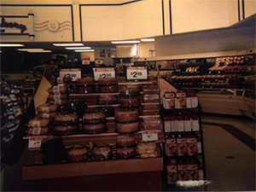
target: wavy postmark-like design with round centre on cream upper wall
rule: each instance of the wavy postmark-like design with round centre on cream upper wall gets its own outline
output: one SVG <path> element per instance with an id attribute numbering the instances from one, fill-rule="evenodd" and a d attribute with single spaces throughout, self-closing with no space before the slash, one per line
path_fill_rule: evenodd
<path id="1" fill-rule="evenodd" d="M 72 24 L 70 21 L 59 22 L 57 20 L 46 20 L 41 23 L 34 23 L 34 32 L 62 32 L 71 29 Z"/>

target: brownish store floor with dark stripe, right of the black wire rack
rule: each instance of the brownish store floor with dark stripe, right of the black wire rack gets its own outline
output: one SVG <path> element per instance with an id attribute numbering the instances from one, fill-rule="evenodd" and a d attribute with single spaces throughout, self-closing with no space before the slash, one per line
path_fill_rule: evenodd
<path id="1" fill-rule="evenodd" d="M 255 190 L 255 151 L 239 138 L 247 137 L 245 141 L 253 140 L 255 144 L 248 134 L 253 121 L 208 116 L 202 120 L 230 124 L 238 130 L 234 135 L 219 125 L 203 124 L 207 180 L 212 181 L 207 190 Z"/>

